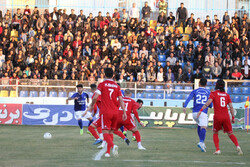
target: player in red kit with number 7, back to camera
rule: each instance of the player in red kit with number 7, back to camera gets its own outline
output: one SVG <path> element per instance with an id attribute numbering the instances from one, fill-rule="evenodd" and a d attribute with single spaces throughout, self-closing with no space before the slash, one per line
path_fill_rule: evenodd
<path id="1" fill-rule="evenodd" d="M 118 156 L 118 146 L 113 143 L 113 131 L 117 126 L 119 103 L 123 110 L 122 118 L 127 119 L 120 86 L 113 80 L 112 68 L 105 69 L 106 80 L 100 83 L 90 104 L 88 111 L 92 111 L 99 95 L 101 95 L 101 123 L 104 140 L 107 142 L 105 157 L 110 157 L 110 150 L 113 148 L 114 156 Z"/>

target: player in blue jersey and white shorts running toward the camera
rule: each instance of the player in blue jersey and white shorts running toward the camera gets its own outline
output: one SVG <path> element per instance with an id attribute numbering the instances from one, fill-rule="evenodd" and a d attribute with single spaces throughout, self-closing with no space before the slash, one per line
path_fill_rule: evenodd
<path id="1" fill-rule="evenodd" d="M 87 93 L 83 92 L 83 86 L 81 84 L 76 86 L 77 93 L 74 93 L 71 97 L 66 100 L 68 104 L 69 100 L 75 100 L 74 110 L 75 110 L 75 119 L 78 121 L 80 127 L 80 134 L 83 134 L 82 119 L 86 118 L 89 121 L 92 121 L 92 115 L 90 112 L 87 112 L 87 103 L 89 103 L 89 96 Z M 86 103 L 87 101 L 87 103 Z"/>

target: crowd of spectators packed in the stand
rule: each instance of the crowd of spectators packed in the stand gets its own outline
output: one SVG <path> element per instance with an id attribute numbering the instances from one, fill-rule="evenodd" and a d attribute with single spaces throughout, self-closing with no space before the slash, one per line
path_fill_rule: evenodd
<path id="1" fill-rule="evenodd" d="M 182 3 L 167 16 L 164 0 L 157 27 L 150 27 L 151 8 L 98 16 L 83 10 L 54 8 L 43 13 L 27 5 L 13 14 L 0 12 L 0 77 L 102 81 L 104 68 L 120 82 L 192 83 L 195 78 L 249 79 L 247 14 L 220 20 L 194 19 Z M 187 43 L 178 26 L 191 28 Z M 170 31 L 173 28 L 173 32 Z M 158 61 L 166 55 L 166 65 Z M 163 63 L 164 64 L 164 63 Z M 183 64 L 185 64 L 183 66 Z M 243 72 L 243 73 L 242 73 Z"/>

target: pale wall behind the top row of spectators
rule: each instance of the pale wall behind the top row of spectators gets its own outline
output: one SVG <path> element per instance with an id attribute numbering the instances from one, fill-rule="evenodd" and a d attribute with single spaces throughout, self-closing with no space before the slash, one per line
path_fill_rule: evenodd
<path id="1" fill-rule="evenodd" d="M 29 5 L 30 9 L 38 6 L 39 10 L 43 12 L 48 9 L 49 12 L 53 11 L 54 7 L 58 9 L 66 9 L 67 14 L 70 14 L 70 10 L 74 9 L 76 14 L 79 14 L 80 10 L 84 11 L 85 15 L 90 12 L 97 15 L 99 11 L 103 15 L 106 12 L 112 14 L 114 9 L 117 8 L 119 11 L 125 8 L 127 11 L 132 7 L 132 3 L 136 3 L 137 7 L 141 10 L 144 6 L 145 1 L 148 1 L 153 14 L 151 19 L 157 19 L 158 16 L 158 2 L 159 0 L 0 0 L 0 10 L 5 14 L 6 9 L 10 9 L 12 13 L 16 12 L 17 8 L 24 9 L 26 5 Z M 188 15 L 191 13 L 195 14 L 195 19 L 200 17 L 202 21 L 205 20 L 206 15 L 210 15 L 212 19 L 214 14 L 218 15 L 218 18 L 222 20 L 225 11 L 228 11 L 230 17 L 234 15 L 235 12 L 238 13 L 239 17 L 242 17 L 244 13 L 249 16 L 249 0 L 165 0 L 168 3 L 167 11 L 168 13 L 172 11 L 175 15 L 177 8 L 180 6 L 181 2 L 184 2 L 184 6 L 188 9 Z M 73 3 L 72 3 L 73 2 Z"/>

